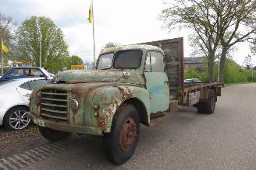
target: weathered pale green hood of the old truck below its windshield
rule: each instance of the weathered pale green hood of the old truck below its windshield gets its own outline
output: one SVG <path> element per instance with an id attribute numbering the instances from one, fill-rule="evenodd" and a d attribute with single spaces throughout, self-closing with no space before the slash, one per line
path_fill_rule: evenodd
<path id="1" fill-rule="evenodd" d="M 123 72 L 128 72 L 130 77 L 121 78 Z M 54 83 L 86 83 L 86 82 L 118 82 L 144 85 L 143 75 L 137 71 L 118 71 L 118 70 L 93 70 L 93 71 L 63 71 L 59 72 L 53 79 Z"/>

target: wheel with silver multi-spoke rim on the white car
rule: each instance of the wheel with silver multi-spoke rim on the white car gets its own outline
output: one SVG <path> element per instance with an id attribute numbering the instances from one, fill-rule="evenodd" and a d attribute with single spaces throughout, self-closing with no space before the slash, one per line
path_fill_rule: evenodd
<path id="1" fill-rule="evenodd" d="M 23 130 L 30 125 L 26 106 L 16 106 L 5 113 L 3 125 L 6 130 Z"/>

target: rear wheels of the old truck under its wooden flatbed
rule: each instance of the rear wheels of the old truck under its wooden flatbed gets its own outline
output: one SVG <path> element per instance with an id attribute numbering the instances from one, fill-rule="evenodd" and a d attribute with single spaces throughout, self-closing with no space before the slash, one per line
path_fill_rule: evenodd
<path id="1" fill-rule="evenodd" d="M 212 114 L 215 110 L 216 94 L 212 89 L 209 89 L 208 100 L 206 102 L 199 102 L 197 105 L 198 113 Z"/>

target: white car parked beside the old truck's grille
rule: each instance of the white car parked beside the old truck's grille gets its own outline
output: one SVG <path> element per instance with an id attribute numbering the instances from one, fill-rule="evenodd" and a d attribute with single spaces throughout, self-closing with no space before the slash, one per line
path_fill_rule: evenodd
<path id="1" fill-rule="evenodd" d="M 34 88 L 47 84 L 45 78 L 20 78 L 0 84 L 0 125 L 21 130 L 30 124 L 29 98 Z"/>

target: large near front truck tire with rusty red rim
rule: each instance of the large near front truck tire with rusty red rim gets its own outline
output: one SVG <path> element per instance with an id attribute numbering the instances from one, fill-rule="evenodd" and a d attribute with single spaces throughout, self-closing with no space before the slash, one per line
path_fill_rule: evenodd
<path id="1" fill-rule="evenodd" d="M 123 164 L 133 156 L 139 135 L 137 109 L 130 104 L 120 106 L 112 120 L 111 133 L 103 137 L 106 158 L 114 164 Z"/>

